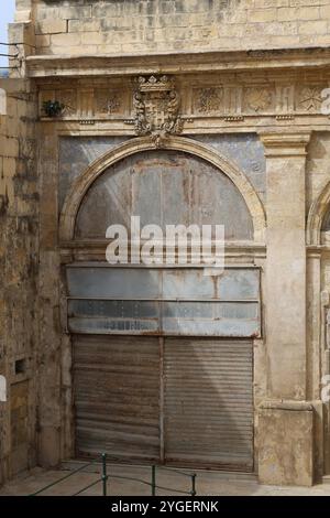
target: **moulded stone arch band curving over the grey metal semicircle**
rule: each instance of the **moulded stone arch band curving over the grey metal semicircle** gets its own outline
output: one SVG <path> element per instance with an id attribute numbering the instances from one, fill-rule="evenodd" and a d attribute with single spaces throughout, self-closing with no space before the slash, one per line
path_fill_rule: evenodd
<path id="1" fill-rule="evenodd" d="M 76 217 L 80 204 L 91 184 L 111 165 L 120 160 L 142 151 L 155 149 L 150 138 L 136 138 L 124 142 L 97 159 L 88 169 L 73 183 L 65 199 L 59 223 L 59 239 L 67 242 L 74 239 Z M 184 151 L 199 157 L 213 164 L 226 174 L 237 186 L 243 196 L 251 214 L 254 229 L 254 241 L 264 242 L 266 218 L 264 207 L 253 186 L 246 176 L 228 159 L 221 157 L 212 148 L 184 137 L 172 137 L 163 145 L 163 150 Z"/>

